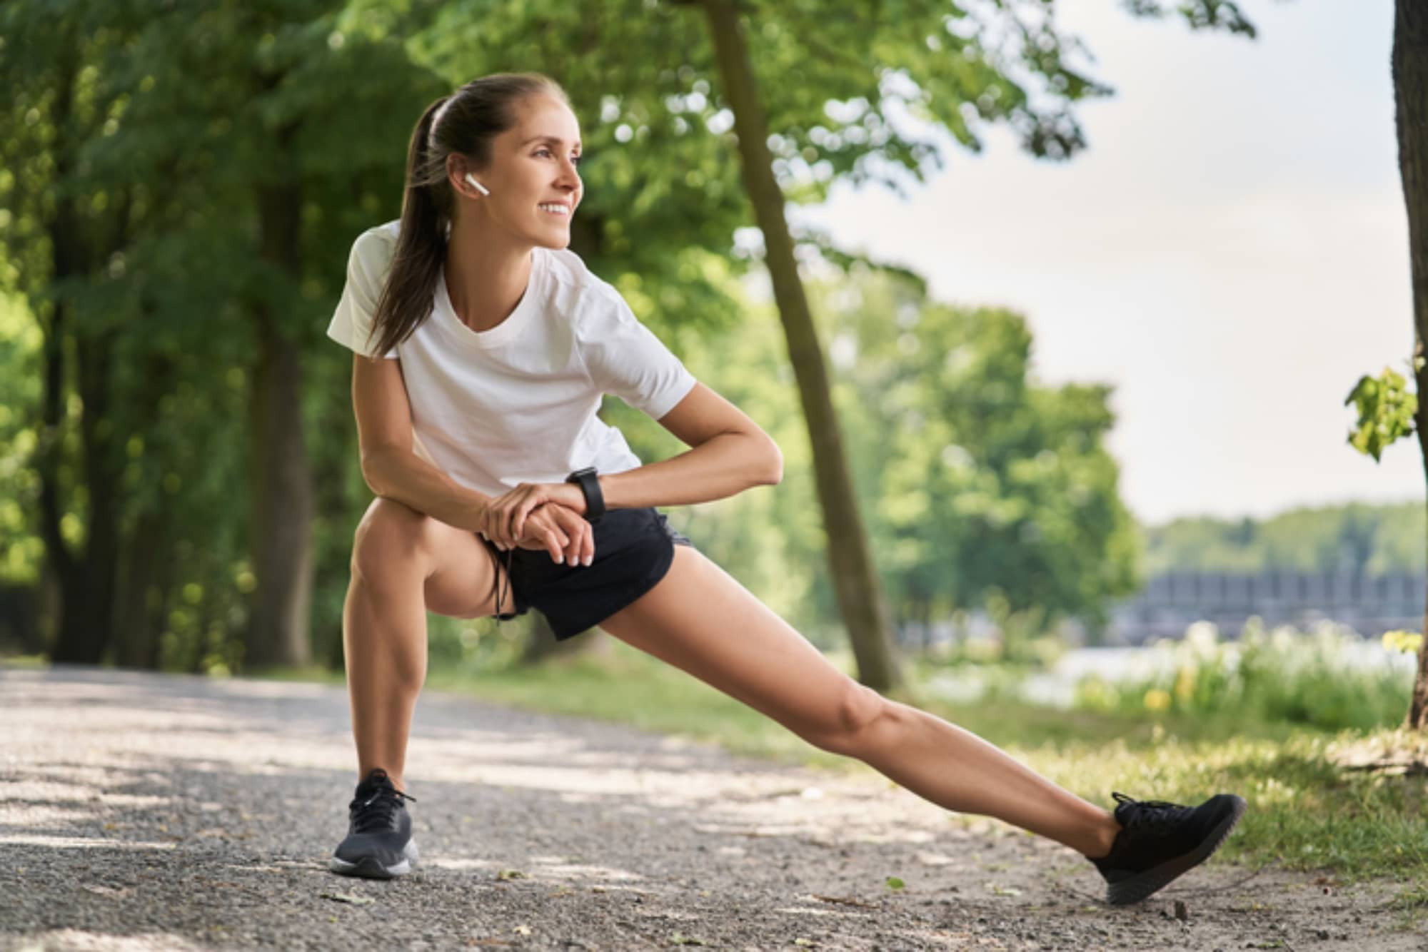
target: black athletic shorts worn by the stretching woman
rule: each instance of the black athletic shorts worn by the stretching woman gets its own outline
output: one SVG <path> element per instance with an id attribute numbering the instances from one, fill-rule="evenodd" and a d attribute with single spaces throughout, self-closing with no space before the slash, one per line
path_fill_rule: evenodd
<path id="1" fill-rule="evenodd" d="M 594 530 L 595 559 L 590 565 L 560 564 L 545 550 L 503 552 L 477 535 L 498 565 L 510 559 L 510 588 L 501 587 L 497 618 L 508 621 L 538 608 L 555 639 L 564 641 L 654 588 L 670 571 L 675 545 L 694 545 L 653 507 L 610 510 Z"/>

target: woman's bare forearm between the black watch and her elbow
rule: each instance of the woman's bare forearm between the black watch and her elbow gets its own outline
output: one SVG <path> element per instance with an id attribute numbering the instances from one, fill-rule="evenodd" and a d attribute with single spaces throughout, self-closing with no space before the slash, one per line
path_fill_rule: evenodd
<path id="1" fill-rule="evenodd" d="M 600 475 L 607 510 L 690 505 L 723 500 L 784 475 L 784 458 L 771 440 L 721 432 L 677 457 Z"/>

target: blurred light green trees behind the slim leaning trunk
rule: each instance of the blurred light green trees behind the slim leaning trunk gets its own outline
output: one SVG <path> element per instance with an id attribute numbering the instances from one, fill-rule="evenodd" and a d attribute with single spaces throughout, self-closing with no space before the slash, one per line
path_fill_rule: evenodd
<path id="1" fill-rule="evenodd" d="M 985 608 L 1010 655 L 1030 661 L 1054 619 L 1094 619 L 1132 591 L 1137 537 L 1102 445 L 1105 388 L 1028 380 L 1030 334 L 1004 311 L 932 304 L 918 284 L 861 267 L 811 294 L 833 341 L 854 488 L 898 621 Z M 800 631 L 835 644 L 798 393 L 774 315 L 767 305 L 747 311 L 743 333 L 688 350 L 685 364 L 774 437 L 784 481 L 675 510 L 671 524 Z M 618 401 L 605 415 L 641 458 L 684 450 Z"/>

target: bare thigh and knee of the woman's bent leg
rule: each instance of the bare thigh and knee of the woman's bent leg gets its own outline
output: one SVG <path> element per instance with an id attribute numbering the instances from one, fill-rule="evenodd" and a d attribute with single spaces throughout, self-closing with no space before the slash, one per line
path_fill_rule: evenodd
<path id="1" fill-rule="evenodd" d="M 413 567 L 421 578 L 427 611 L 438 615 L 494 615 L 496 582 L 501 581 L 508 589 L 506 569 L 496 564 L 476 532 L 417 512 L 396 500 L 377 497 L 357 527 L 354 572 L 381 588 L 391 581 L 411 578 Z"/>

